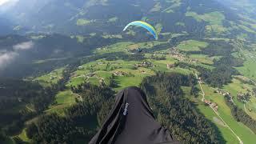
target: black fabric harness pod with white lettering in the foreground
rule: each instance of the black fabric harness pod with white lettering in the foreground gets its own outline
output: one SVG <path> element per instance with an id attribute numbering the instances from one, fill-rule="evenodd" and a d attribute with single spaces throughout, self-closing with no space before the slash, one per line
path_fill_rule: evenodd
<path id="1" fill-rule="evenodd" d="M 89 144 L 169 144 L 174 141 L 169 130 L 155 121 L 138 87 L 129 87 L 117 94 L 115 104 L 102 129 Z"/>

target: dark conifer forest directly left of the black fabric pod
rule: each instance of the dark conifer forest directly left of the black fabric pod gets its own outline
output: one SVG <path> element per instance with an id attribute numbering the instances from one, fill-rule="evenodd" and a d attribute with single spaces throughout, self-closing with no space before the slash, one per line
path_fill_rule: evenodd
<path id="1" fill-rule="evenodd" d="M 105 120 L 114 101 L 109 87 L 83 83 L 71 90 L 82 99 L 65 110 L 65 116 L 47 114 L 27 126 L 26 134 L 35 143 L 88 142 Z"/>

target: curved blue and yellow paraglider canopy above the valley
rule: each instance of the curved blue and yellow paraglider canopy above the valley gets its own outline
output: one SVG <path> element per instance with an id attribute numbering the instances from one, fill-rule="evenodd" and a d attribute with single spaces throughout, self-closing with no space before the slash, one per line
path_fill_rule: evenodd
<path id="1" fill-rule="evenodd" d="M 155 40 L 158 40 L 157 31 L 149 23 L 142 22 L 142 21 L 130 22 L 128 25 L 126 25 L 126 27 L 123 29 L 123 31 L 125 31 L 129 26 L 141 26 L 144 29 L 148 30 L 150 32 L 150 34 L 152 34 L 154 36 Z"/>

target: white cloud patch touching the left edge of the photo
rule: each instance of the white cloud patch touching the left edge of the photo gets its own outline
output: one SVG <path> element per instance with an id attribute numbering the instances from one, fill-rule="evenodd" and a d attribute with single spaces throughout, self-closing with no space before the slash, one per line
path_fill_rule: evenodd
<path id="1" fill-rule="evenodd" d="M 7 65 L 10 64 L 18 56 L 17 52 L 6 52 L 0 53 L 0 70 L 5 68 Z"/>

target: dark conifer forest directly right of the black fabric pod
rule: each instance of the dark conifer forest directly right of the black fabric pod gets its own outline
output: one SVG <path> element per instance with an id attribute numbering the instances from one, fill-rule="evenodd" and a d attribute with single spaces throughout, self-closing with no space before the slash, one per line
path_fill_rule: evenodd
<path id="1" fill-rule="evenodd" d="M 195 86 L 196 83 L 194 75 L 156 74 L 144 78 L 141 88 L 158 121 L 167 126 L 174 138 L 185 143 L 225 142 L 217 127 L 184 97 L 181 86 Z"/>

